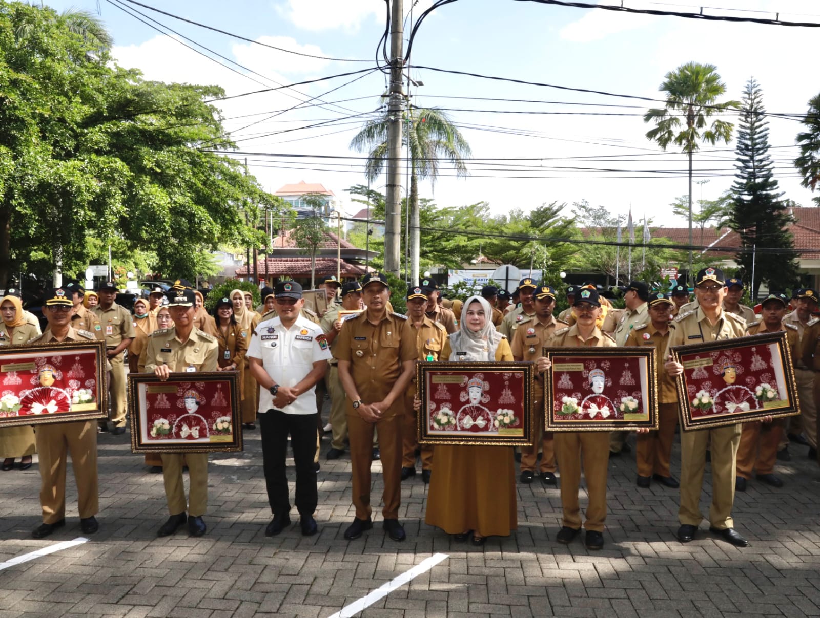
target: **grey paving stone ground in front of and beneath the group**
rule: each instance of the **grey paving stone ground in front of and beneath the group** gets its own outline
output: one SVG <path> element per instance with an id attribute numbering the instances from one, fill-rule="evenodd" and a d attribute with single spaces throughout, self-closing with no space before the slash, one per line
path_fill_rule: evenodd
<path id="1" fill-rule="evenodd" d="M 607 544 L 589 552 L 580 538 L 571 547 L 555 543 L 558 489 L 538 479 L 518 486 L 517 532 L 483 548 L 423 523 L 420 475 L 402 486 L 404 543 L 385 537 L 379 507 L 374 529 L 348 543 L 347 455 L 321 458 L 320 534 L 301 536 L 293 517 L 291 529 L 265 538 L 271 512 L 258 430 L 246 434 L 244 452 L 211 457 L 207 534 L 189 538 L 180 529 L 157 538 L 167 516 L 162 475 L 151 474 L 129 443 L 128 434 L 100 435 L 99 532 L 88 543 L 0 570 L 0 618 L 326 618 L 436 552 L 449 558 L 357 616 L 820 616 L 820 472 L 804 447 L 792 445 L 794 461 L 778 462 L 785 488 L 753 480 L 737 495 L 736 527 L 750 542 L 743 549 L 709 534 L 707 524 L 694 542 L 678 543 L 676 490 L 638 489 L 634 458 L 612 458 Z M 673 461 L 677 475 L 677 443 Z M 380 471 L 378 462 L 373 469 Z M 69 477 L 66 528 L 35 541 L 37 465 L 0 472 L 0 562 L 82 535 Z M 374 475 L 375 502 L 381 488 Z M 707 492 L 701 507 L 708 509 Z"/>

